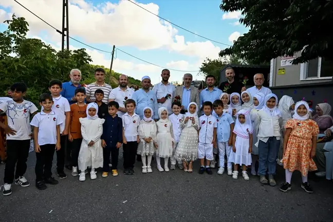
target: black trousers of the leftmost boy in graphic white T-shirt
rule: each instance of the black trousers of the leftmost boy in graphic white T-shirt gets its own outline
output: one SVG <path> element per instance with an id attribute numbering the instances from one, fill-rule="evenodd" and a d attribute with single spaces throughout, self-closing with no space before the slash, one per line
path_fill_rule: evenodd
<path id="1" fill-rule="evenodd" d="M 30 149 L 30 140 L 7 140 L 7 162 L 5 166 L 5 183 L 13 183 L 15 179 L 23 176 L 27 170 L 27 159 Z"/>

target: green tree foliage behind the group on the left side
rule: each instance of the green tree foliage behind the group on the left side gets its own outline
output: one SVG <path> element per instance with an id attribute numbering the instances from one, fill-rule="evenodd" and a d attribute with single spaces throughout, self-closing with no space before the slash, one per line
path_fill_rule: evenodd
<path id="1" fill-rule="evenodd" d="M 12 15 L 5 21 L 7 30 L 0 32 L 0 96 L 14 82 L 24 82 L 28 86 L 26 99 L 38 104 L 39 96 L 48 93 L 51 79 L 69 81 L 69 72 L 78 68 L 82 72 L 82 83 L 95 82 L 91 57 L 84 48 L 78 50 L 57 51 L 39 39 L 26 38 L 29 24 L 24 17 Z M 106 82 L 117 87 L 120 73 L 103 67 L 106 71 Z M 140 81 L 128 77 L 128 82 L 139 85 Z"/>

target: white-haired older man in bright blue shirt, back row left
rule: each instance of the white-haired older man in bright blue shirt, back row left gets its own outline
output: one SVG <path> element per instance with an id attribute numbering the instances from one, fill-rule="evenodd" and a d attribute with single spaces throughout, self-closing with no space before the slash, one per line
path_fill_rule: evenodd
<path id="1" fill-rule="evenodd" d="M 65 97 L 69 104 L 76 103 L 75 90 L 81 87 L 81 71 L 79 69 L 70 70 L 69 74 L 70 81 L 62 84 L 62 91 L 60 95 Z"/>

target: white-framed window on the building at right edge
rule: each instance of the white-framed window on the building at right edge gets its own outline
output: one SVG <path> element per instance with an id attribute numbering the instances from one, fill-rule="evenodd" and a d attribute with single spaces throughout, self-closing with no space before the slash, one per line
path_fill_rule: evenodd
<path id="1" fill-rule="evenodd" d="M 331 79 L 333 61 L 317 58 L 301 64 L 300 80 Z"/>

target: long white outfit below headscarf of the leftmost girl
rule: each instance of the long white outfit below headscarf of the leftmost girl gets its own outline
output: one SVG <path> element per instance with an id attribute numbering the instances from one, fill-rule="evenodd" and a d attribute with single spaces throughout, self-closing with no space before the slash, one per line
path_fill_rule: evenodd
<path id="1" fill-rule="evenodd" d="M 78 167 L 80 171 L 84 171 L 87 167 L 100 168 L 103 167 L 103 148 L 101 144 L 101 136 L 103 133 L 104 119 L 87 119 L 80 118 L 82 143 L 78 159 Z M 93 140 L 94 145 L 88 146 Z"/>

